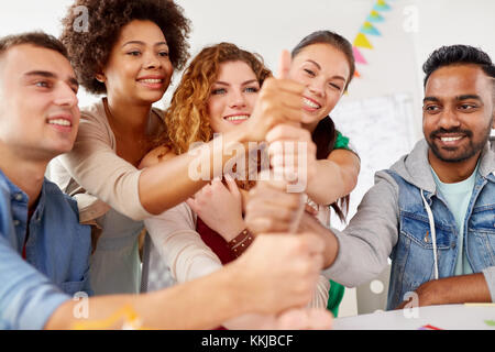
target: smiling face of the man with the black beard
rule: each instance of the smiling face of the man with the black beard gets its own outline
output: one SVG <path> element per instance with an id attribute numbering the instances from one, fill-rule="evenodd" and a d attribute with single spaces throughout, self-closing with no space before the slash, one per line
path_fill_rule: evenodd
<path id="1" fill-rule="evenodd" d="M 493 80 L 476 65 L 437 69 L 426 85 L 422 128 L 430 162 L 477 160 L 495 128 Z"/>

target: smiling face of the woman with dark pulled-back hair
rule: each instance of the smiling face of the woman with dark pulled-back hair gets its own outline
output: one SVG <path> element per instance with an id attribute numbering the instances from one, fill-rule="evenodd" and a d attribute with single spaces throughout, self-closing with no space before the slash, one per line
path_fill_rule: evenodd
<path id="1" fill-rule="evenodd" d="M 289 77 L 306 86 L 304 121 L 315 128 L 336 107 L 350 79 L 345 55 L 330 44 L 311 44 L 297 54 Z"/>

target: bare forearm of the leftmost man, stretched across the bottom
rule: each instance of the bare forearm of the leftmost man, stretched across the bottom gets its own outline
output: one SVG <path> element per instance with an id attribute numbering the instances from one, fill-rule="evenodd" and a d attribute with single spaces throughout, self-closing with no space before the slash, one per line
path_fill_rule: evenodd
<path id="1" fill-rule="evenodd" d="M 87 319 L 74 317 L 75 306 L 81 302 L 67 301 L 52 315 L 45 329 L 73 329 L 77 323 L 91 327 L 108 320 L 127 306 L 132 308 L 143 328 L 211 329 L 248 310 L 237 297 L 235 283 L 231 272 L 223 270 L 195 282 L 146 295 L 94 297 L 88 300 Z M 121 329 L 122 322 L 119 319 L 116 326 L 106 329 Z"/>

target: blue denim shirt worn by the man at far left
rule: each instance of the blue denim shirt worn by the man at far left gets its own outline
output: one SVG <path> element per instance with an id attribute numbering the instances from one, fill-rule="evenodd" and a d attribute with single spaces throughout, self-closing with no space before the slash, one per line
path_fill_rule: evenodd
<path id="1" fill-rule="evenodd" d="M 28 224 L 28 200 L 0 170 L 0 330 L 43 329 L 70 296 L 92 294 L 90 229 L 79 224 L 76 202 L 45 179 Z"/>

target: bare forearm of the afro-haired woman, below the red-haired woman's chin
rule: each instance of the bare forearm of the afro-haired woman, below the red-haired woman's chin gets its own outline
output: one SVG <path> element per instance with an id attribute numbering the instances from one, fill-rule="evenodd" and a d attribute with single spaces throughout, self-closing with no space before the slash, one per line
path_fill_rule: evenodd
<path id="1" fill-rule="evenodd" d="M 147 167 L 139 183 L 141 204 L 148 212 L 158 215 L 185 201 L 221 176 L 226 163 L 245 151 L 244 142 L 244 132 L 235 130 L 190 153 Z"/>

